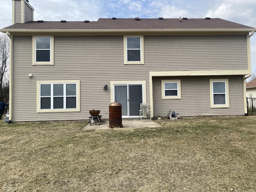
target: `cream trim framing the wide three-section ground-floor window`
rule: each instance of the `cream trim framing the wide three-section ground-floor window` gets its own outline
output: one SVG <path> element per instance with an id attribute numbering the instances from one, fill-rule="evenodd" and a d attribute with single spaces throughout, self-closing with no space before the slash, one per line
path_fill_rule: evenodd
<path id="1" fill-rule="evenodd" d="M 77 84 L 76 88 L 76 103 L 75 109 L 40 109 L 40 84 Z M 80 80 L 58 80 L 58 81 L 36 81 L 36 112 L 49 113 L 49 112 L 80 112 Z"/>

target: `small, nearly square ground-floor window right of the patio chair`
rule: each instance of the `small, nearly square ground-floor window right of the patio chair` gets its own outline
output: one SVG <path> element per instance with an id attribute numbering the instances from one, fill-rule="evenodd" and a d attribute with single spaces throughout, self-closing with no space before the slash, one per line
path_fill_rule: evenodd
<path id="1" fill-rule="evenodd" d="M 181 99 L 180 80 L 162 80 L 162 99 Z"/>

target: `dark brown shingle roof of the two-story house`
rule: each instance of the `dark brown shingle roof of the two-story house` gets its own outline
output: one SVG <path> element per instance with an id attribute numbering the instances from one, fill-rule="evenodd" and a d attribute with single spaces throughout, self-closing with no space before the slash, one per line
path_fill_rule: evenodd
<path id="1" fill-rule="evenodd" d="M 98 21 L 60 22 L 60 21 L 30 21 L 16 23 L 4 29 L 34 29 L 34 30 L 132 30 L 132 29 L 254 29 L 250 26 L 230 22 L 220 18 L 211 19 L 131 19 L 131 18 L 100 18 Z"/>

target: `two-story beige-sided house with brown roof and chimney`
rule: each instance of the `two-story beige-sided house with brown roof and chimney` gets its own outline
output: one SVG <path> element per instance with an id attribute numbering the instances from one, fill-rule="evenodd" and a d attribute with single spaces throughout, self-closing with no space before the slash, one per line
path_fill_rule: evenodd
<path id="1" fill-rule="evenodd" d="M 26 0 L 13 0 L 10 120 L 244 115 L 250 36 L 255 28 L 220 18 L 100 18 L 33 21 Z M 104 88 L 105 87 L 105 88 Z"/>

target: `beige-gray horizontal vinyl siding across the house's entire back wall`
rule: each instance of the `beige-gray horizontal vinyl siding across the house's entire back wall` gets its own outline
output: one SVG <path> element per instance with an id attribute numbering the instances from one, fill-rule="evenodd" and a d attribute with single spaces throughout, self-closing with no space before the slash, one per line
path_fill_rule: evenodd
<path id="1" fill-rule="evenodd" d="M 193 52 L 196 49 L 198 54 Z M 203 54 L 204 50 L 211 50 L 212 54 L 210 51 Z M 14 36 L 12 121 L 88 120 L 89 110 L 93 109 L 101 110 L 102 118 L 108 118 L 105 112 L 112 102 L 110 81 L 146 80 L 146 102 L 149 102 L 150 71 L 247 69 L 246 36 L 144 36 L 144 61 L 143 65 L 124 65 L 122 35 L 54 36 L 54 65 L 32 66 L 32 36 Z M 33 77 L 29 78 L 28 74 Z M 210 108 L 209 77 L 179 78 L 182 80 L 182 100 L 178 103 L 160 98 L 158 83 L 161 79 L 154 78 L 153 82 L 155 116 L 158 112 L 164 116 L 174 106 L 180 114 L 190 116 L 195 107 L 193 99 L 198 102 L 196 107 L 202 109 L 197 112 L 200 115 L 244 113 L 243 100 L 240 100 L 242 83 L 231 76 L 228 109 Z M 38 80 L 80 80 L 80 112 L 37 113 Z M 103 90 L 105 84 L 108 85 L 106 91 Z M 199 98 L 193 86 L 202 90 Z M 235 103 L 236 98 L 238 103 Z"/>

